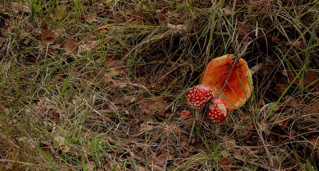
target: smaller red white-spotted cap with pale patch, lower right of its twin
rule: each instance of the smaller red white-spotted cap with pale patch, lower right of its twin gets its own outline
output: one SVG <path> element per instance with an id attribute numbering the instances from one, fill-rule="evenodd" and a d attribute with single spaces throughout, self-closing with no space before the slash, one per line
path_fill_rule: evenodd
<path id="1" fill-rule="evenodd" d="M 221 99 L 215 99 L 208 108 L 208 119 L 212 122 L 220 123 L 228 117 L 228 107 Z"/>

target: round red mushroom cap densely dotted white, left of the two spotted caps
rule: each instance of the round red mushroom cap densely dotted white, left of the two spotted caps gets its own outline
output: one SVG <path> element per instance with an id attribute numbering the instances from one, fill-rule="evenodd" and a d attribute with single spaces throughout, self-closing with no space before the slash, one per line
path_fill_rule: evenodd
<path id="1" fill-rule="evenodd" d="M 192 87 L 187 96 L 187 102 L 193 108 L 201 108 L 212 98 L 213 95 L 211 89 L 200 84 L 198 86 Z"/>

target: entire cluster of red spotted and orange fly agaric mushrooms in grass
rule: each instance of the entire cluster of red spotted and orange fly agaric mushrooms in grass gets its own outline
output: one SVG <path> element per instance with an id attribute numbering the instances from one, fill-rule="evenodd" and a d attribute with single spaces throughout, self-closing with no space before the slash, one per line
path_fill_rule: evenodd
<path id="1" fill-rule="evenodd" d="M 187 98 L 194 109 L 208 104 L 207 118 L 216 123 L 228 117 L 228 111 L 243 106 L 251 96 L 252 75 L 246 61 L 225 54 L 211 60 L 201 75 L 200 84 L 191 88 Z M 211 102 L 212 101 L 212 102 Z M 181 116 L 190 116 L 183 110 Z"/>

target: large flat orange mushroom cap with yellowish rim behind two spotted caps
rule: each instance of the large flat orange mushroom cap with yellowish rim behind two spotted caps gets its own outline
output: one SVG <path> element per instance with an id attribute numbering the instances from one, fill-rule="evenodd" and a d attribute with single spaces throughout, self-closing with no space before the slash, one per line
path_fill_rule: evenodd
<path id="1" fill-rule="evenodd" d="M 219 98 L 229 110 L 243 106 L 253 89 L 252 75 L 246 61 L 242 58 L 234 60 L 232 56 L 233 54 L 225 54 L 211 60 L 199 81 L 208 86 L 214 96 L 221 94 Z"/>

